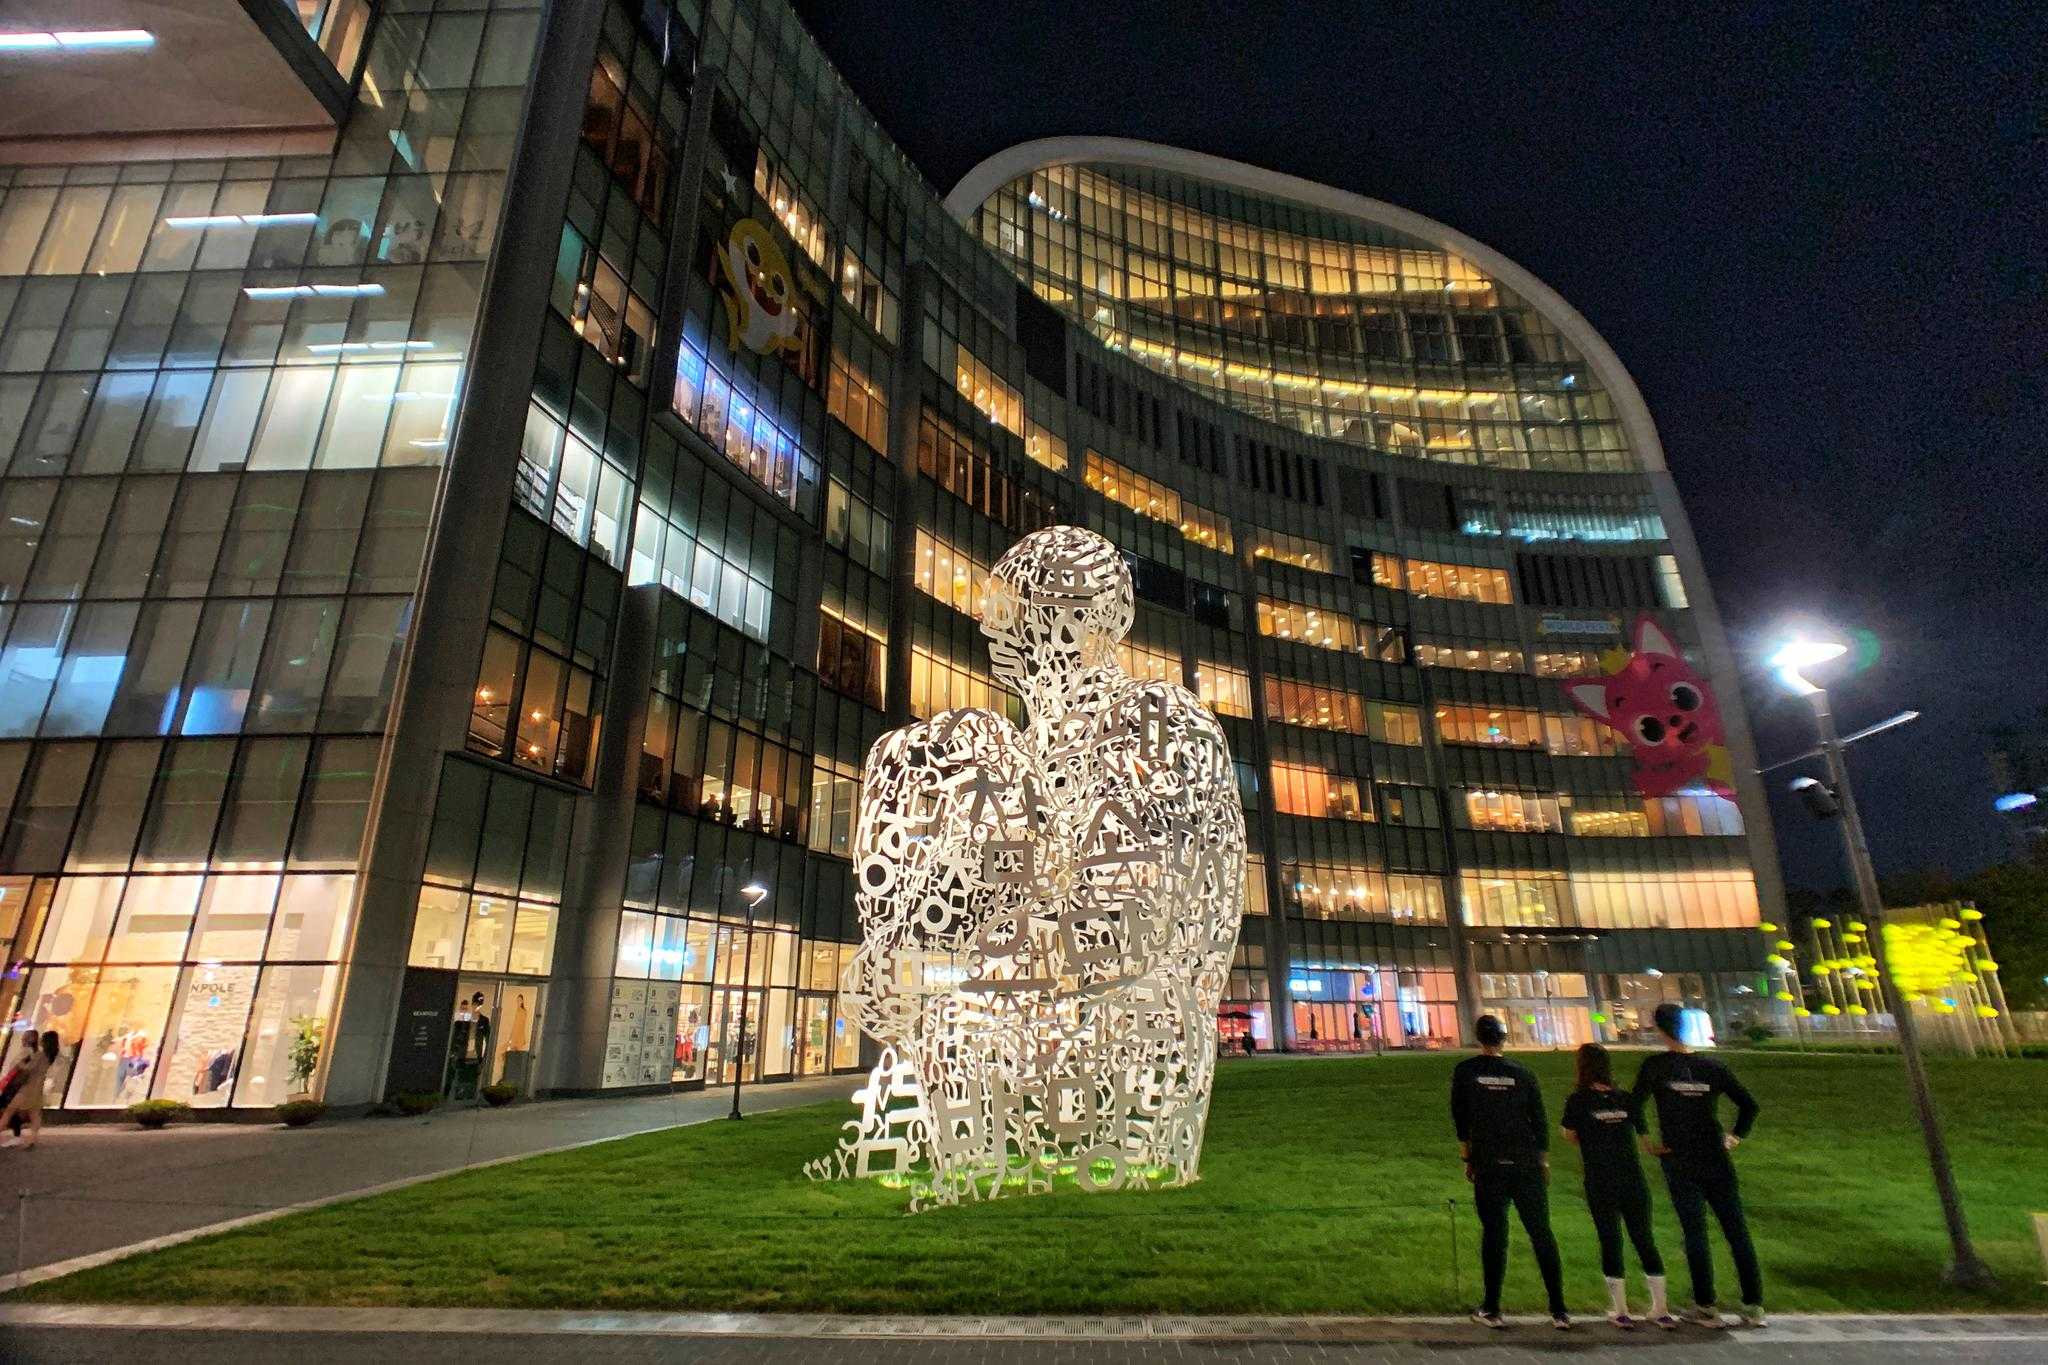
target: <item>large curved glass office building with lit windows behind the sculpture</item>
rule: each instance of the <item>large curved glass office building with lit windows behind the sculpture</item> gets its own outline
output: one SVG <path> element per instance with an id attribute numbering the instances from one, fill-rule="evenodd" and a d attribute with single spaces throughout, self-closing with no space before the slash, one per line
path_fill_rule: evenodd
<path id="1" fill-rule="evenodd" d="M 0 53 L 0 1011 L 61 1107 L 858 1068 L 860 761 L 1014 710 L 983 575 L 1057 522 L 1229 729 L 1233 1042 L 1759 1009 L 1706 581 L 1511 262 L 1139 143 L 942 201 L 778 0 L 131 8 Z M 1640 614 L 1737 800 L 1567 704 Z"/>

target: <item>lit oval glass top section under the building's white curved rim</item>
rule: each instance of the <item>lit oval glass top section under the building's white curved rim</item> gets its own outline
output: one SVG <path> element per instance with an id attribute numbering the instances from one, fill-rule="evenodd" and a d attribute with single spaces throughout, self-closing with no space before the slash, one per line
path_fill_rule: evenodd
<path id="1" fill-rule="evenodd" d="M 1393 227 L 1065 164 L 1004 184 L 975 229 L 1104 346 L 1253 417 L 1450 465 L 1638 469 L 1591 366 L 1542 313 Z"/>

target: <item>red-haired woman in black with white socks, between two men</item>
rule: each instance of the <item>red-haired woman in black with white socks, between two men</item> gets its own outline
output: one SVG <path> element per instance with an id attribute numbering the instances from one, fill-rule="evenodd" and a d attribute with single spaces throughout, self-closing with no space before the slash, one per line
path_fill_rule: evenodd
<path id="1" fill-rule="evenodd" d="M 1642 1277 L 1651 1281 L 1651 1322 L 1671 1330 L 1677 1318 L 1665 1304 L 1663 1257 L 1651 1232 L 1651 1187 L 1636 1162 L 1636 1136 L 1647 1132 L 1642 1105 L 1614 1089 L 1614 1062 L 1599 1044 L 1579 1048 L 1579 1089 L 1565 1101 L 1565 1138 L 1579 1148 L 1585 1169 L 1585 1207 L 1599 1234 L 1599 1273 L 1608 1277 L 1608 1322 L 1628 1330 L 1628 1269 L 1622 1263 L 1622 1226 L 1636 1244 Z"/>

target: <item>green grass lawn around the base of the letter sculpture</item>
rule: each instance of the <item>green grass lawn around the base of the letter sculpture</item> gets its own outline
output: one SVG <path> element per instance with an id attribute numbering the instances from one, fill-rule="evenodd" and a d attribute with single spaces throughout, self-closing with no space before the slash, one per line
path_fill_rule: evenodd
<path id="1" fill-rule="evenodd" d="M 1468 1306 L 1477 1224 L 1454 1160 L 1454 1058 L 1225 1062 L 1204 1179 L 905 1218 L 903 1191 L 813 1185 L 846 1105 L 700 1124 L 455 1175 L 35 1285 L 16 1300 L 844 1312 L 1368 1312 Z M 1552 1119 L 1567 1058 L 1530 1058 Z M 2048 1310 L 2042 1062 L 1935 1062 L 1995 1300 L 1935 1285 L 1946 1240 L 1896 1058 L 1737 1054 L 1763 1103 L 1739 1152 L 1782 1310 Z M 1620 1058 L 1622 1074 L 1634 1058 Z M 1577 1306 L 1604 1302 L 1577 1156 L 1552 1220 Z M 1653 1181 L 1655 1185 L 1655 1181 Z M 1446 1205 L 1446 1201 L 1450 1201 Z M 1462 1257 L 1450 1275 L 1450 1209 Z M 1686 1295 L 1659 1187 L 1659 1244 Z M 1722 1302 L 1735 1279 L 1722 1252 Z M 1516 1232 L 1509 1310 L 1538 1287 Z M 1636 1289 L 1640 1297 L 1640 1287 Z"/>

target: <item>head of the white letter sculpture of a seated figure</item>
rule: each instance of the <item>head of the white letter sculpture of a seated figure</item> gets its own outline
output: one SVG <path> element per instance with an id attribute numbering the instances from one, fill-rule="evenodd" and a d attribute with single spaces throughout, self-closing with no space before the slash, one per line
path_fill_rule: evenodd
<path id="1" fill-rule="evenodd" d="M 1116 659 L 1135 614 L 1130 567 L 1116 546 L 1079 526 L 1049 526 L 995 561 L 981 634 L 997 681 L 1036 716 L 1065 710 L 1065 688 Z"/>

